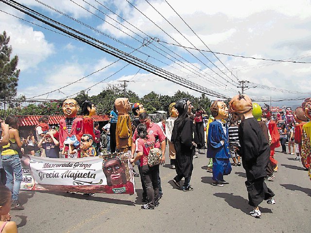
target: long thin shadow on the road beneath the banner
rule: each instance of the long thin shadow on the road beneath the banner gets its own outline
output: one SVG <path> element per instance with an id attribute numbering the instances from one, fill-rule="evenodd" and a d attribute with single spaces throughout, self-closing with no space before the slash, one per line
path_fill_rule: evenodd
<path id="1" fill-rule="evenodd" d="M 106 203 L 113 203 L 113 204 L 120 204 L 120 205 L 134 205 L 135 203 L 130 200 L 120 200 L 120 199 L 113 199 L 113 198 L 103 198 L 103 197 L 96 197 L 96 196 L 84 196 L 82 193 L 65 193 L 65 192 L 46 192 L 46 191 L 36 191 L 36 192 L 42 192 L 42 193 L 51 193 L 57 196 L 63 196 L 63 197 L 69 197 L 69 198 L 75 198 L 80 200 L 93 200 L 93 201 L 99 201 L 99 202 L 106 202 Z M 96 195 L 96 194 L 95 194 Z"/>

